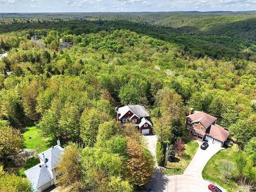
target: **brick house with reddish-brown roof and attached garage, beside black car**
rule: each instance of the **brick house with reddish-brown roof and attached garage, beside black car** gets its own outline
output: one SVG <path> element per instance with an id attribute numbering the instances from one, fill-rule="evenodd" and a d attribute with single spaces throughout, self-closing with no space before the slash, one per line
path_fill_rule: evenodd
<path id="1" fill-rule="evenodd" d="M 202 111 L 189 109 L 186 116 L 186 129 L 189 135 L 198 140 L 207 140 L 214 144 L 223 146 L 229 136 L 229 132 L 220 125 L 215 124 L 217 118 Z"/>

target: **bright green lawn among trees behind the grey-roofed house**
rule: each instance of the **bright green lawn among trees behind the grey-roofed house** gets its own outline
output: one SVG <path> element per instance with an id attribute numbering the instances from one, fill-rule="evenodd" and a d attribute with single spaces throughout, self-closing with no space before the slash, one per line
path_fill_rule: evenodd
<path id="1" fill-rule="evenodd" d="M 25 142 L 25 148 L 32 148 L 36 150 L 37 153 L 41 153 L 47 148 L 49 148 L 49 139 L 41 136 L 41 130 L 37 129 L 35 126 L 27 127 L 22 134 Z M 29 139 L 31 137 L 31 139 Z"/>

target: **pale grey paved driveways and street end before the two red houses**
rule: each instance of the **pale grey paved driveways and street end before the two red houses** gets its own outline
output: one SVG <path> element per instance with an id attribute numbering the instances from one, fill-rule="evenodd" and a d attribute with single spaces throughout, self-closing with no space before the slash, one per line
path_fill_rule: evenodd
<path id="1" fill-rule="evenodd" d="M 156 149 L 156 136 L 145 136 L 150 151 Z M 202 142 L 197 141 L 199 146 Z M 209 192 L 208 185 L 210 182 L 202 177 L 202 171 L 209 159 L 222 148 L 215 144 L 209 144 L 209 147 L 204 151 L 198 147 L 196 154 L 188 164 L 182 175 L 167 176 L 163 174 L 158 167 L 151 180 L 146 184 L 146 188 L 154 191 L 174 191 L 174 192 Z M 155 156 L 155 153 L 152 153 Z M 214 170 L 213 170 L 214 171 Z M 223 192 L 226 190 L 222 189 Z"/>

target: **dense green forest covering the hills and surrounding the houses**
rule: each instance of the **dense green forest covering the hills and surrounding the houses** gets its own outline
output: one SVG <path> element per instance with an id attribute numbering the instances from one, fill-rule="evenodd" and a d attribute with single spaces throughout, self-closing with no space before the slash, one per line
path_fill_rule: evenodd
<path id="1" fill-rule="evenodd" d="M 120 104 L 150 112 L 158 164 L 185 134 L 190 107 L 217 117 L 239 146 L 229 179 L 255 185 L 255 12 L 0 17 L 0 190 L 29 190 L 5 165 L 30 124 L 66 143 L 60 185 L 143 190 L 154 160 L 133 125 L 115 121 Z"/>

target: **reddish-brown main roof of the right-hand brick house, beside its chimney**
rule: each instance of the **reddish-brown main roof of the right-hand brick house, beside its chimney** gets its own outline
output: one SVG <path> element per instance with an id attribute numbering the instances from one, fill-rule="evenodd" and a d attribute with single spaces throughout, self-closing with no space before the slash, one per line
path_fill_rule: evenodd
<path id="1" fill-rule="evenodd" d="M 194 111 L 193 114 L 186 116 L 186 118 L 190 119 L 192 123 L 195 123 L 195 122 L 202 123 L 206 129 L 217 120 L 216 117 L 211 116 L 202 111 Z"/>

